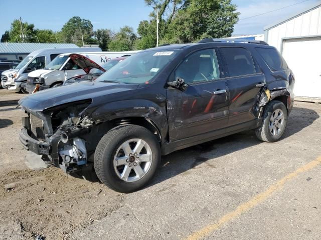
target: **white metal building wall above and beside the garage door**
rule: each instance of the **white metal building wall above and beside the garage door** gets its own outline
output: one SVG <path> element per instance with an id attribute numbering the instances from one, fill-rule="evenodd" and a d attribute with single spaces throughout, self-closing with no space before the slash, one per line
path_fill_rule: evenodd
<path id="1" fill-rule="evenodd" d="M 321 5 L 265 29 L 265 40 L 281 51 L 282 38 L 321 35 Z"/>

